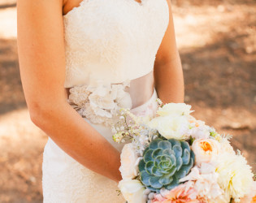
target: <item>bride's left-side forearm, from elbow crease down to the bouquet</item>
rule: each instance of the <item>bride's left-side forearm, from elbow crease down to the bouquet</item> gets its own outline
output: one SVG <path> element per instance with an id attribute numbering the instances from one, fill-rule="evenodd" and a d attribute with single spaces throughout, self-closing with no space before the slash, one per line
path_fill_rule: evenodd
<path id="1" fill-rule="evenodd" d="M 39 110 L 35 114 L 37 115 L 32 117 L 33 123 L 72 158 L 110 179 L 121 179 L 119 151 L 91 127 L 72 106 L 63 102 L 58 108 Z"/>

